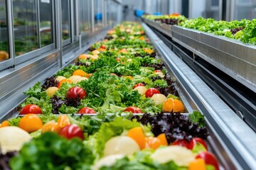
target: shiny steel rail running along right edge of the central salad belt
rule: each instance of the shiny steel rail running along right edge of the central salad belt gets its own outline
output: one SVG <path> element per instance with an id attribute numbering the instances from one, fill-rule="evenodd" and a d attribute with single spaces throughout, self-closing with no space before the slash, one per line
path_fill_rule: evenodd
<path id="1" fill-rule="evenodd" d="M 213 132 L 213 145 L 225 156 L 222 160 L 225 169 L 255 169 L 256 134 L 236 115 L 154 32 L 142 23 L 147 35 L 165 58 L 178 81 L 189 89 L 199 110 L 206 116 L 208 128 Z M 218 149 L 218 147 L 216 147 Z M 226 157 L 228 156 L 228 157 Z"/>

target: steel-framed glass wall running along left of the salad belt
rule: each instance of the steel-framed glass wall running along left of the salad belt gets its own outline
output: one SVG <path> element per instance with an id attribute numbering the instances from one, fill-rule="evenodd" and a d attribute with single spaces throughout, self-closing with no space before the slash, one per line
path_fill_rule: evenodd
<path id="1" fill-rule="evenodd" d="M 92 24 L 95 23 L 92 16 L 94 9 L 103 13 L 105 0 L 98 0 L 93 10 L 92 2 L 0 1 L 1 118 L 11 116 L 10 111 L 23 101 L 22 91 L 30 84 L 43 81 L 102 38 L 107 27 L 102 22 L 97 26 Z M 110 3 L 121 8 L 119 1 L 110 0 Z M 113 12 L 117 17 L 117 11 L 112 9 Z M 118 17 L 120 21 L 122 15 Z"/>

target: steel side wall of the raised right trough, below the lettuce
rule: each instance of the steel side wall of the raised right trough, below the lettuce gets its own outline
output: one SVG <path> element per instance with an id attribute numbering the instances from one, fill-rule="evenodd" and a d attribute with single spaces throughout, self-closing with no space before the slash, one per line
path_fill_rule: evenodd
<path id="1" fill-rule="evenodd" d="M 198 30 L 145 21 L 256 92 L 256 46 Z"/>

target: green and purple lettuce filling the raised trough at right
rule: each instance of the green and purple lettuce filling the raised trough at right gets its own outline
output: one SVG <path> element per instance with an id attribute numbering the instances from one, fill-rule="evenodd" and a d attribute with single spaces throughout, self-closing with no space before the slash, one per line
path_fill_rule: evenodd
<path id="1" fill-rule="evenodd" d="M 192 18 L 186 19 L 178 13 L 173 13 L 164 16 L 146 15 L 143 18 L 160 21 L 169 25 L 178 25 L 185 28 L 192 28 L 201 30 L 206 33 L 213 33 L 215 35 L 223 35 L 228 38 L 240 40 L 244 43 L 256 45 L 256 19 L 241 21 L 215 21 L 213 18 Z"/>

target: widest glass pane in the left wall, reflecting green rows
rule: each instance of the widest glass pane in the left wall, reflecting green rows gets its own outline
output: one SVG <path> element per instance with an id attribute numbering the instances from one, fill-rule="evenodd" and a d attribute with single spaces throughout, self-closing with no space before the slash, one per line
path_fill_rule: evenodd
<path id="1" fill-rule="evenodd" d="M 38 49 L 36 1 L 15 0 L 13 11 L 15 55 Z"/>

